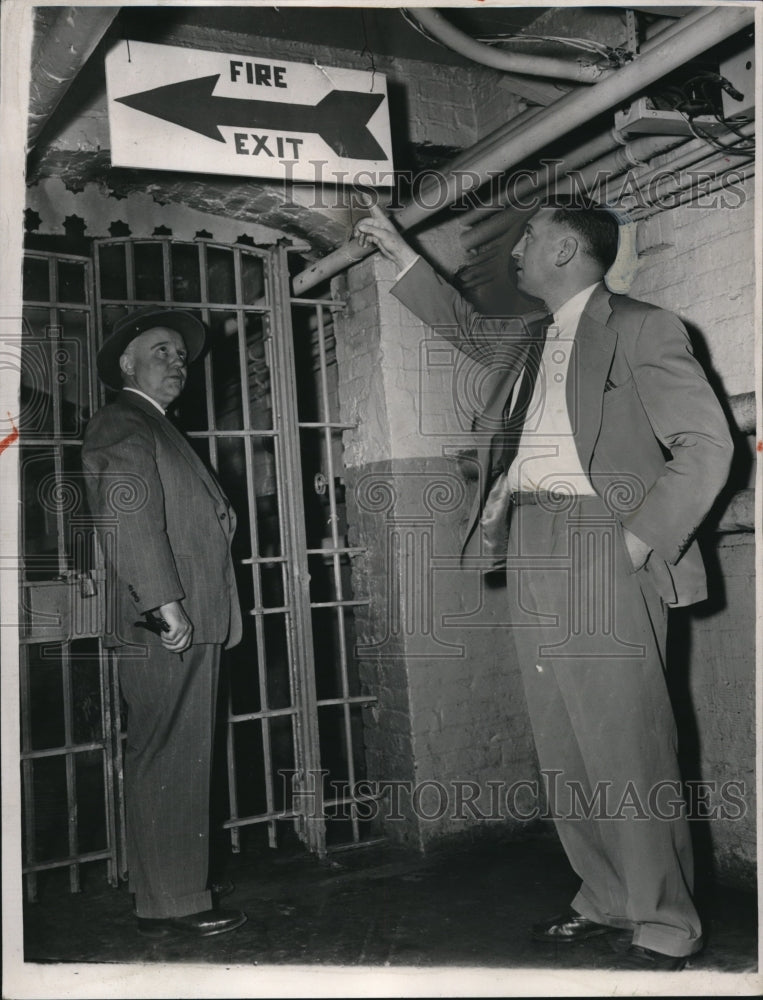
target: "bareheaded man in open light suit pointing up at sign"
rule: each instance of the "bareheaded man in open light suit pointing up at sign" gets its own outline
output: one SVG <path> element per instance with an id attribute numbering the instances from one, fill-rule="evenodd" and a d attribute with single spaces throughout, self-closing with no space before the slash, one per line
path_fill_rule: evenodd
<path id="1" fill-rule="evenodd" d="M 694 535 L 728 474 L 723 412 L 680 321 L 604 285 L 618 247 L 604 209 L 541 207 L 512 251 L 519 289 L 553 313 L 547 330 L 477 315 L 388 220 L 356 232 L 398 266 L 392 293 L 467 354 L 487 362 L 503 334 L 464 561 L 493 566 L 508 523 L 512 638 L 549 809 L 581 878 L 532 936 L 631 931 L 617 966 L 681 969 L 702 931 L 667 607 L 706 596 Z"/>

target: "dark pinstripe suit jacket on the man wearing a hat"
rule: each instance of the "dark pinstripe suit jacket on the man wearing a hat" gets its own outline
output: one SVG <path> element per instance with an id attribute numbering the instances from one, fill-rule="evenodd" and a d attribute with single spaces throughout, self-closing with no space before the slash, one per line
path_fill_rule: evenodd
<path id="1" fill-rule="evenodd" d="M 181 432 L 123 391 L 88 424 L 82 463 L 91 512 L 104 519 L 106 645 L 159 642 L 134 623 L 170 601 L 182 602 L 194 643 L 239 642 L 236 515 Z"/>

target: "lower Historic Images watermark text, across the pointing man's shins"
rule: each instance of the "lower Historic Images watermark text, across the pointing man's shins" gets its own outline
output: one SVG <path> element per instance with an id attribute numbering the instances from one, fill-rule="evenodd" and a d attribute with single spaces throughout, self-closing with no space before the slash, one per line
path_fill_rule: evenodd
<path id="1" fill-rule="evenodd" d="M 749 791 L 744 781 L 659 781 L 649 787 L 635 780 L 618 787 L 601 781 L 584 787 L 563 771 L 541 770 L 538 779 L 485 781 L 327 780 L 326 770 L 281 770 L 285 794 L 311 819 L 403 822 L 581 822 L 669 823 L 678 819 L 743 819 Z"/>

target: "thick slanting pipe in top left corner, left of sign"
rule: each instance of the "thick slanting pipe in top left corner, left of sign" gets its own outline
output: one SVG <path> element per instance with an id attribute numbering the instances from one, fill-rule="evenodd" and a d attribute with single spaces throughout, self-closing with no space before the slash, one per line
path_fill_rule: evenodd
<path id="1" fill-rule="evenodd" d="M 27 148 L 32 149 L 64 94 L 119 13 L 119 7 L 61 7 L 39 50 L 29 88 Z"/>

